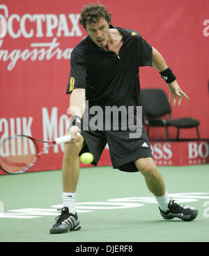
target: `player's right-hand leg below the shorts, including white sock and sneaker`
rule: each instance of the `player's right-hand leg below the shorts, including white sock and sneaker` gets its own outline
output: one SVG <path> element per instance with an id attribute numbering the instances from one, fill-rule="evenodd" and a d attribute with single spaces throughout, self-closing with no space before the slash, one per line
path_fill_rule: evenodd
<path id="1" fill-rule="evenodd" d="M 177 204 L 168 197 L 162 175 L 157 169 L 153 158 L 140 158 L 134 163 L 141 174 L 144 175 L 148 189 L 155 195 L 160 213 L 164 219 L 170 220 L 176 217 L 181 220 L 191 221 L 196 218 L 198 211 L 194 207 Z"/>

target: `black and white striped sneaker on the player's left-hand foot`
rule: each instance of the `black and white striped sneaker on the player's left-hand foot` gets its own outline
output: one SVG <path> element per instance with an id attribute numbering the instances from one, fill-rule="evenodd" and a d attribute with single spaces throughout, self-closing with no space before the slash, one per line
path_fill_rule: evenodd
<path id="1" fill-rule="evenodd" d="M 68 207 L 57 209 L 57 211 L 60 211 L 61 215 L 56 217 L 56 223 L 50 228 L 50 234 L 68 233 L 81 229 L 77 213 L 69 213 Z"/>

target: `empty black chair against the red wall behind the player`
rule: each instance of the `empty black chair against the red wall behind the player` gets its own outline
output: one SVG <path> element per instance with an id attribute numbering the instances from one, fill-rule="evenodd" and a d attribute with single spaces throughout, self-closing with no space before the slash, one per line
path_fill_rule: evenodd
<path id="1" fill-rule="evenodd" d="M 147 135 L 149 135 L 151 126 L 162 126 L 169 140 L 168 126 L 174 126 L 177 128 L 176 140 L 179 140 L 181 128 L 196 128 L 197 138 L 200 139 L 198 120 L 192 117 L 172 119 L 171 106 L 167 94 L 162 89 L 141 89 L 139 103 L 142 106 L 144 123 L 147 125 Z M 169 114 L 169 119 L 163 118 L 166 114 Z"/>

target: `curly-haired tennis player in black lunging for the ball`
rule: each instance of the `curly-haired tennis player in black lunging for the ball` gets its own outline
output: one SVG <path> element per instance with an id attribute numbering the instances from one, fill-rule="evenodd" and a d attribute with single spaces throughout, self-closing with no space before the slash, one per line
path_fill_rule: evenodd
<path id="1" fill-rule="evenodd" d="M 158 70 L 169 86 L 169 100 L 171 102 L 173 98 L 173 105 L 177 103 L 180 106 L 182 98 L 189 100 L 188 96 L 180 89 L 176 76 L 162 55 L 137 31 L 111 25 L 111 14 L 104 6 L 95 3 L 84 6 L 79 22 L 88 36 L 75 47 L 70 59 L 67 93 L 71 93 L 72 119 L 68 135 L 72 135 L 72 142 L 65 144 L 63 156 L 63 208 L 59 209 L 61 215 L 56 218 L 50 233 L 65 233 L 81 228 L 75 211 L 79 155 L 91 152 L 94 156 L 93 165 L 97 165 L 107 143 L 114 168 L 143 174 L 162 218 L 194 220 L 198 214 L 194 207 L 178 204 L 169 198 L 162 175 L 153 161 L 146 132 L 141 122 L 137 121 L 137 106 L 140 104 L 139 67 L 154 66 Z M 114 119 L 107 126 L 107 106 L 123 107 L 123 110 L 133 107 L 133 111 L 118 115 L 118 120 Z M 101 110 L 99 117 L 102 121 L 98 116 L 93 119 L 93 107 Z M 130 122 L 123 119 L 128 114 L 132 114 L 134 123 L 137 123 L 135 136 L 130 136 L 133 135 L 133 123 L 130 127 Z M 112 120 L 113 115 L 110 116 Z M 93 120 L 97 121 L 97 128 Z M 136 135 L 137 127 L 141 127 L 139 136 Z"/>

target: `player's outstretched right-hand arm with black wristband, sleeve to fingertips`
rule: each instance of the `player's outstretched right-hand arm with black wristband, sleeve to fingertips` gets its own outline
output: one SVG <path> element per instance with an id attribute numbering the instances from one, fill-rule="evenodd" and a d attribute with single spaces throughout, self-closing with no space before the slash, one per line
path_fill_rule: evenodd
<path id="1" fill-rule="evenodd" d="M 167 66 L 166 61 L 164 61 L 160 52 L 153 47 L 153 55 L 152 55 L 152 63 L 153 66 L 160 72 L 160 75 L 167 82 L 170 90 L 169 102 L 171 103 L 171 99 L 173 97 L 173 106 L 176 105 L 176 100 L 178 98 L 178 106 L 180 106 L 182 96 L 189 100 L 189 97 L 178 85 L 176 81 L 175 75 L 173 75 L 172 70 Z"/>

